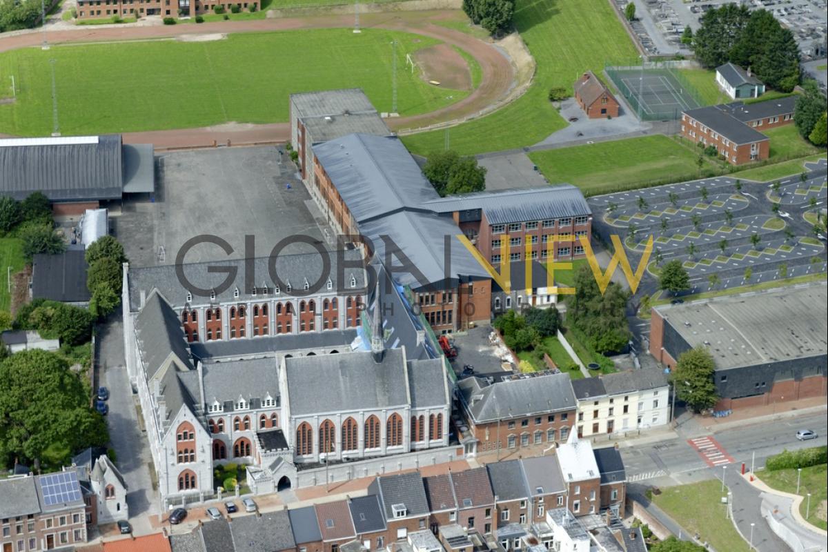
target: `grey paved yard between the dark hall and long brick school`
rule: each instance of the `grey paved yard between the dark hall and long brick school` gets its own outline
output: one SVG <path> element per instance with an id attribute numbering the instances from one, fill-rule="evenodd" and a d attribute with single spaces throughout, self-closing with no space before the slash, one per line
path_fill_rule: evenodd
<path id="1" fill-rule="evenodd" d="M 205 235 L 224 240 L 232 252 L 201 243 L 190 249 L 186 262 L 265 257 L 282 238 L 294 234 L 335 239 L 298 179 L 296 166 L 272 146 L 157 156 L 154 200 L 125 200 L 114 220 L 133 266 L 173 264 L 185 242 Z M 255 240 L 252 252 L 245 252 L 248 234 Z M 309 249 L 293 244 L 285 252 Z"/>

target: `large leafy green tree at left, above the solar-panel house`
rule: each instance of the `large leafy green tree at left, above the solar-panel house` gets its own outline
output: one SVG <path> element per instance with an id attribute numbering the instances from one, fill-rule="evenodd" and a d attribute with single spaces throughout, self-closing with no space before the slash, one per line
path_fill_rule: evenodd
<path id="1" fill-rule="evenodd" d="M 72 454 L 107 441 L 103 417 L 89 408 L 86 387 L 59 355 L 34 349 L 0 363 L 3 463 L 13 458 L 40 463 L 48 456 L 56 468 Z"/>

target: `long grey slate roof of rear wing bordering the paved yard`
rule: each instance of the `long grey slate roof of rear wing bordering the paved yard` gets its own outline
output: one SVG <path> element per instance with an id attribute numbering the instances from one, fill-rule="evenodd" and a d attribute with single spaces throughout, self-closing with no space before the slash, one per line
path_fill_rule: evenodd
<path id="1" fill-rule="evenodd" d="M 273 288 L 276 283 L 270 277 L 268 270 L 269 258 L 258 257 L 253 259 L 253 275 L 252 281 L 254 286 L 271 288 L 270 295 L 253 295 L 245 293 L 245 278 L 251 276 L 245 271 L 246 259 L 232 259 L 214 262 L 194 262 L 181 265 L 181 270 L 184 272 L 187 281 L 196 287 L 203 290 L 212 290 L 220 286 L 227 278 L 228 274 L 224 271 L 208 271 L 210 266 L 222 267 L 229 266 L 235 269 L 235 280 L 230 283 L 226 290 L 216 293 L 213 302 L 223 302 L 232 300 L 261 300 L 263 297 L 267 298 L 284 298 L 286 300 L 296 299 L 297 295 L 307 293 L 304 290 L 305 280 L 308 285 L 313 286 L 317 280 L 322 277 L 320 286 L 325 290 L 327 279 L 330 278 L 331 284 L 335 290 L 339 289 L 338 276 L 339 269 L 337 265 L 337 255 L 335 251 L 328 252 L 330 261 L 330 271 L 324 274 L 324 264 L 322 257 L 318 252 L 312 253 L 298 253 L 294 255 L 279 255 L 276 258 L 276 275 L 282 281 L 284 286 L 280 289 L 280 294 L 275 295 Z M 356 262 L 362 258 L 362 253 L 357 250 L 346 251 L 341 253 L 344 259 L 349 262 Z M 361 288 L 364 284 L 364 272 L 361 269 L 344 269 L 345 281 L 341 283 L 342 289 L 350 288 L 350 277 L 354 276 L 356 280 L 356 287 Z M 291 294 L 287 292 L 286 286 L 291 285 Z M 129 269 L 129 302 L 131 310 L 138 310 L 141 304 L 141 292 L 144 291 L 149 295 L 150 291 L 155 288 L 161 291 L 161 294 L 169 300 L 172 305 L 183 306 L 187 302 L 187 289 L 184 282 L 180 281 L 176 274 L 175 265 L 163 266 L 147 266 L 143 268 Z M 235 290 L 238 288 L 238 297 L 235 296 Z M 199 296 L 195 290 L 190 290 L 193 299 L 190 300 L 191 305 L 204 305 L 209 303 L 209 294 Z"/>

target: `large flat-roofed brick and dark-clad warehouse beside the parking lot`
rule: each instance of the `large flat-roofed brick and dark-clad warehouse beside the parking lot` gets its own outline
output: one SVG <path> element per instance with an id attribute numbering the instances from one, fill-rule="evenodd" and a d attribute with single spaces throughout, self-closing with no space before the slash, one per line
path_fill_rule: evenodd
<path id="1" fill-rule="evenodd" d="M 652 310 L 650 353 L 657 360 L 675 367 L 681 353 L 698 346 L 715 359 L 715 410 L 825 396 L 826 284 Z"/>

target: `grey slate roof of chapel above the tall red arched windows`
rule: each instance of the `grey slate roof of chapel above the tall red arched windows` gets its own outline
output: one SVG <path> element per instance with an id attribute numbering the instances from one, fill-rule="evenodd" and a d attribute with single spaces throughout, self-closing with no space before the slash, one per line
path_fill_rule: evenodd
<path id="1" fill-rule="evenodd" d="M 286 358 L 285 367 L 291 415 L 408 404 L 402 349 L 386 350 L 382 362 L 374 362 L 371 353 L 357 351 Z"/>

